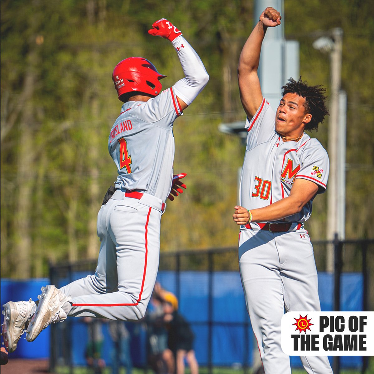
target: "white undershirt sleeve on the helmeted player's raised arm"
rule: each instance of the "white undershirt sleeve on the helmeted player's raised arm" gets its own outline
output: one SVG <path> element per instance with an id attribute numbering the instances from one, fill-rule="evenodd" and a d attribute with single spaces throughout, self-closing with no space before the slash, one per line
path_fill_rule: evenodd
<path id="1" fill-rule="evenodd" d="M 175 38 L 172 45 L 177 51 L 183 73 L 186 76 L 175 83 L 175 94 L 187 105 L 190 105 L 208 83 L 209 75 L 200 57 L 182 35 Z"/>

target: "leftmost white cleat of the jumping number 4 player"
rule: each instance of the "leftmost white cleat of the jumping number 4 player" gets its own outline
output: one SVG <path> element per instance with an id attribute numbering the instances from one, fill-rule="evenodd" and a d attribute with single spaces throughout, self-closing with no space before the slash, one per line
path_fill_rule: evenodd
<path id="1" fill-rule="evenodd" d="M 19 338 L 25 332 L 36 310 L 34 301 L 9 301 L 3 305 L 4 323 L 1 330 L 4 346 L 10 353 L 17 348 Z"/>

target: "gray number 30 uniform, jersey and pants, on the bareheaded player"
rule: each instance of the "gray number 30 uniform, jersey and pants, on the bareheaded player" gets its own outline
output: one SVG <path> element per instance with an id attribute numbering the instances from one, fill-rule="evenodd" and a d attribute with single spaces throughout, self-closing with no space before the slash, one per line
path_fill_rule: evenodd
<path id="1" fill-rule="evenodd" d="M 329 161 L 322 145 L 307 134 L 283 142 L 275 132 L 275 112 L 266 99 L 251 121 L 240 183 L 240 205 L 261 208 L 289 196 L 296 178 L 326 190 Z M 239 267 L 251 324 L 265 373 L 291 374 L 289 356 L 281 348 L 284 310 L 319 311 L 318 279 L 313 247 L 303 227 L 312 200 L 300 213 L 286 217 L 287 232 L 265 230 L 265 223 L 240 227 Z M 326 356 L 301 357 L 307 373 L 332 374 Z"/>

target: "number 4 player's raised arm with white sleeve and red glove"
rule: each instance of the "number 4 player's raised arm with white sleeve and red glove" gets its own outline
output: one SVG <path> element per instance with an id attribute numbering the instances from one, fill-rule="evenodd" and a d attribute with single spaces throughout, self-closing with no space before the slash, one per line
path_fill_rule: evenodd
<path id="1" fill-rule="evenodd" d="M 200 57 L 183 37 L 181 31 L 167 19 L 162 18 L 154 22 L 148 33 L 170 40 L 177 51 L 185 78 L 175 83 L 174 88 L 180 108 L 184 110 L 206 86 L 209 75 Z"/>

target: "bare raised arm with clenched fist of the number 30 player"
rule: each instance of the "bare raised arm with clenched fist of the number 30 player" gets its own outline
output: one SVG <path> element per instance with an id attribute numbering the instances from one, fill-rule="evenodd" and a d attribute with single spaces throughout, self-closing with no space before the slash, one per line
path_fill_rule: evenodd
<path id="1" fill-rule="evenodd" d="M 260 21 L 255 25 L 240 53 L 237 68 L 239 92 L 243 108 L 249 119 L 252 119 L 262 101 L 260 80 L 257 75 L 261 45 L 267 28 L 280 25 L 281 18 L 281 14 L 277 10 L 267 7 L 261 13 Z"/>

